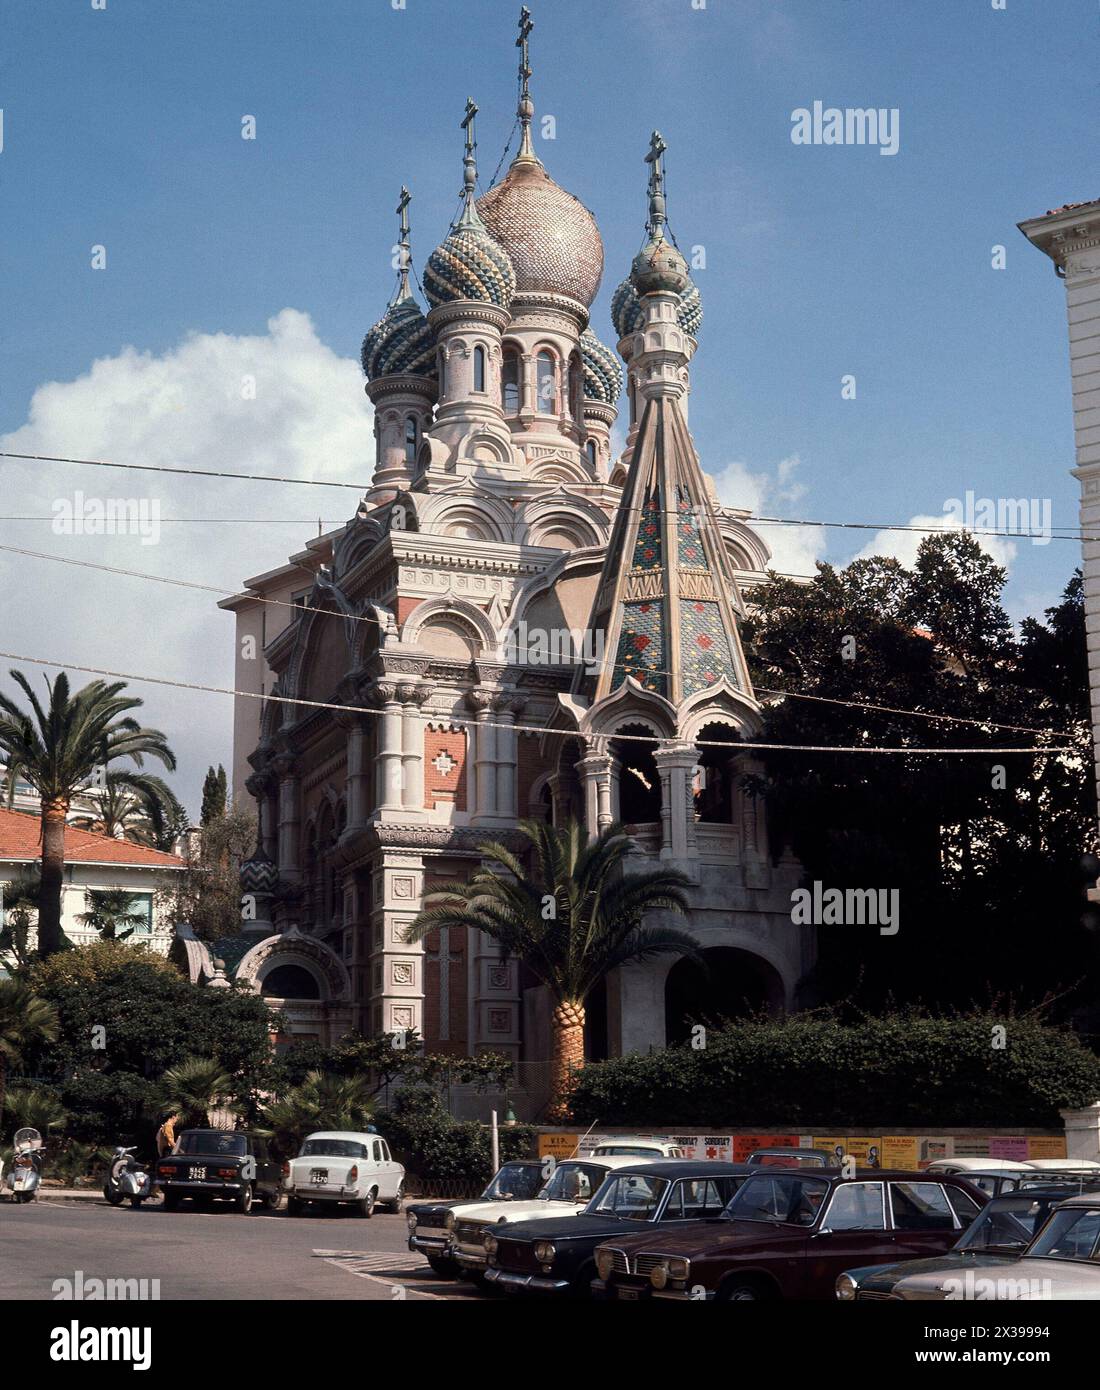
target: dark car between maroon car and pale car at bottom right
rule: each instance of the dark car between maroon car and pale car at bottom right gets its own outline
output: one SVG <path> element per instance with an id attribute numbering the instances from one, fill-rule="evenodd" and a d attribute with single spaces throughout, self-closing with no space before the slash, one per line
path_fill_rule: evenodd
<path id="1" fill-rule="evenodd" d="M 891 1298 L 898 1280 L 909 1275 L 957 1275 L 961 1269 L 973 1269 L 976 1264 L 1015 1259 L 1028 1248 L 1051 1209 L 1065 1201 L 1065 1195 L 1064 1187 L 1036 1187 L 1028 1193 L 994 1197 L 946 1255 L 846 1269 L 836 1282 L 836 1295 L 843 1302 Z"/>

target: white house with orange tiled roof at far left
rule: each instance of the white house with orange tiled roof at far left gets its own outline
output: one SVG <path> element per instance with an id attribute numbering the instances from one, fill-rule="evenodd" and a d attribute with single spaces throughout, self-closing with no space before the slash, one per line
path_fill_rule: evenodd
<path id="1" fill-rule="evenodd" d="M 0 885 L 11 883 L 24 872 L 39 869 L 40 859 L 39 817 L 18 810 L 0 810 Z M 143 941 L 167 955 L 172 927 L 163 915 L 157 895 L 171 881 L 171 874 L 181 869 L 184 860 L 175 855 L 67 826 L 61 930 L 74 945 L 97 941 L 95 927 L 85 927 L 78 920 L 88 910 L 89 890 L 125 888 L 134 894 L 132 910 L 145 915 L 145 923 L 127 940 Z"/>

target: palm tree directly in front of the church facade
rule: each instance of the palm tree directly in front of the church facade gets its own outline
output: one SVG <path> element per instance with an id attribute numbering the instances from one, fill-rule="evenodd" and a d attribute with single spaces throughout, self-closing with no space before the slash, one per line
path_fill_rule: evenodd
<path id="1" fill-rule="evenodd" d="M 570 1076 L 584 1062 L 584 1001 L 595 986 L 629 960 L 697 951 L 686 931 L 642 926 L 647 913 L 687 910 L 688 878 L 674 869 L 624 873 L 631 841 L 622 826 L 595 838 L 576 821 L 559 830 L 524 820 L 519 830 L 534 851 L 531 867 L 502 844 L 478 845 L 490 866 L 432 892 L 407 937 L 423 941 L 437 927 L 484 931 L 547 987 L 553 1001 L 549 1115 L 565 1118 Z"/>

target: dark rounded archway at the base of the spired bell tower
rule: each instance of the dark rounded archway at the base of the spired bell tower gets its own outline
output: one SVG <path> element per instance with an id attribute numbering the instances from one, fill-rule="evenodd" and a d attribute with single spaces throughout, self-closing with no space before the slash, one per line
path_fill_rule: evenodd
<path id="1" fill-rule="evenodd" d="M 783 980 L 775 966 L 751 951 L 709 947 L 702 963 L 683 958 L 665 981 L 665 1037 L 669 1047 L 686 1042 L 695 1023 L 715 1026 L 784 1004 Z"/>

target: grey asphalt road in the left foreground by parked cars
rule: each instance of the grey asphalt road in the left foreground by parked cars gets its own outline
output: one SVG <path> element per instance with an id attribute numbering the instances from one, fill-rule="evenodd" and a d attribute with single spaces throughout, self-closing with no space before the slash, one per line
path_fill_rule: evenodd
<path id="1" fill-rule="evenodd" d="M 161 1300 L 476 1298 L 406 1248 L 405 1216 L 241 1216 L 89 1201 L 0 1202 L 0 1300 L 53 1300 L 54 1280 L 159 1279 Z"/>

